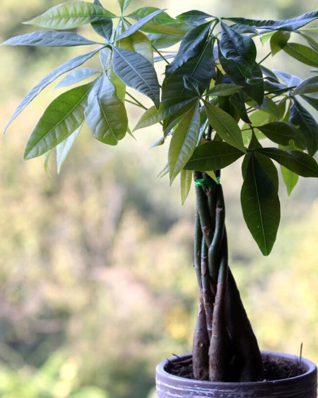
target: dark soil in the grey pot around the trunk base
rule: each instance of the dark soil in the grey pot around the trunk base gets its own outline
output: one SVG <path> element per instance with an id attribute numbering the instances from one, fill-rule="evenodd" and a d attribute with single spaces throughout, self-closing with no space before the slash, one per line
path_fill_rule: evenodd
<path id="1" fill-rule="evenodd" d="M 264 381 L 282 380 L 303 375 L 305 373 L 299 363 L 283 360 L 273 361 L 268 357 L 263 359 L 263 363 L 266 376 Z M 179 359 L 174 362 L 169 362 L 169 364 L 165 367 L 165 370 L 171 375 L 190 378 L 192 380 L 195 379 L 193 375 L 192 358 L 185 360 Z"/>

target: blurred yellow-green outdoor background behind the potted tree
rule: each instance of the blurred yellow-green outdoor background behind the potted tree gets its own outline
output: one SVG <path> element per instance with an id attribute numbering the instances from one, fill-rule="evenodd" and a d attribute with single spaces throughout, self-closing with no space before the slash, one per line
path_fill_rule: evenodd
<path id="1" fill-rule="evenodd" d="M 1 0 L 0 41 L 61 0 Z M 117 12 L 115 0 L 102 0 Z M 213 15 L 285 19 L 315 0 L 134 0 Z M 128 11 L 129 11 L 128 9 Z M 79 29 L 90 35 L 88 26 Z M 258 43 L 258 41 L 257 41 Z M 269 43 L 259 47 L 259 59 Z M 0 126 L 46 73 L 85 48 L 0 48 Z M 98 58 L 91 60 L 98 68 Z M 267 66 L 309 75 L 278 53 Z M 159 72 L 162 71 L 162 67 Z M 33 125 L 56 96 L 49 86 L 0 137 L 0 396 L 154 398 L 155 366 L 191 351 L 197 286 L 192 268 L 194 194 L 155 181 L 167 147 L 147 148 L 159 127 L 105 146 L 83 129 L 61 174 L 43 158 L 23 161 Z M 130 90 L 132 92 L 132 90 Z M 138 98 L 145 104 L 144 97 Z M 129 108 L 129 107 L 128 107 Z M 311 109 L 310 111 L 312 111 Z M 134 127 L 139 110 L 129 108 Z M 318 185 L 300 177 L 281 227 L 262 257 L 244 225 L 240 164 L 223 173 L 230 265 L 262 349 L 318 362 Z"/>

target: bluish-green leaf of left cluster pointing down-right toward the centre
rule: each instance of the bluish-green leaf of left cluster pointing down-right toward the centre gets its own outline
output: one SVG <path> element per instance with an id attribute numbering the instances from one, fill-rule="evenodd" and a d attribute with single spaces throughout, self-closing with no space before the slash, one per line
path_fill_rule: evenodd
<path id="1" fill-rule="evenodd" d="M 113 67 L 116 75 L 127 86 L 147 95 L 158 108 L 160 88 L 156 70 L 151 63 L 137 52 L 119 47 L 113 49 Z"/>

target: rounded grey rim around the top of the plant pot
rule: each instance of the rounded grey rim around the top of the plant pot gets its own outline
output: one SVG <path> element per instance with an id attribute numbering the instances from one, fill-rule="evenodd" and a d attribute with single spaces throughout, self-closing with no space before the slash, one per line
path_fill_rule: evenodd
<path id="1" fill-rule="evenodd" d="M 285 359 L 285 360 L 289 360 L 291 362 L 295 362 L 295 360 L 298 358 L 296 355 L 292 355 L 292 354 L 287 354 L 284 352 L 277 352 L 277 351 L 261 351 L 262 357 L 280 357 L 281 359 Z M 176 375 L 171 375 L 170 373 L 168 373 L 167 371 L 165 371 L 164 367 L 170 362 L 176 361 L 176 359 L 186 359 L 192 356 L 192 353 L 187 353 L 187 354 L 182 354 L 182 355 L 178 355 L 178 357 L 174 356 L 168 359 L 165 359 L 164 361 L 160 362 L 159 365 L 157 366 L 156 369 L 156 374 L 157 377 L 159 376 L 160 378 L 164 378 L 164 379 L 169 379 L 169 380 L 176 380 L 176 381 L 183 381 L 183 383 L 204 383 L 204 384 L 209 384 L 209 385 L 219 385 L 219 386 L 233 386 L 235 387 L 237 386 L 242 386 L 244 384 L 247 385 L 271 385 L 271 384 L 277 384 L 277 383 L 286 383 L 288 381 L 293 382 L 293 380 L 299 380 L 299 379 L 303 379 L 306 377 L 310 377 L 311 375 L 314 375 L 315 373 L 317 373 L 317 366 L 315 365 L 314 362 L 310 361 L 309 359 L 306 358 L 301 358 L 301 362 L 302 365 L 305 366 L 306 372 L 303 373 L 302 375 L 298 375 L 298 376 L 294 376 L 294 377 L 290 377 L 290 378 L 285 378 L 285 379 L 279 379 L 279 380 L 268 380 L 268 381 L 251 381 L 251 382 L 233 382 L 233 383 L 229 383 L 229 382 L 221 382 L 221 381 L 205 381 L 205 380 L 194 380 L 194 379 L 189 379 L 186 377 L 180 377 L 180 376 L 176 376 Z"/>

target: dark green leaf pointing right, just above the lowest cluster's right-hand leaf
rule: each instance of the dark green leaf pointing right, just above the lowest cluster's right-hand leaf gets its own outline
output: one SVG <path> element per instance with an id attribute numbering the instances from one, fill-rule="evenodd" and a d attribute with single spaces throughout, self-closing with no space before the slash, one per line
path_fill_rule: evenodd
<path id="1" fill-rule="evenodd" d="M 281 145 L 289 145 L 290 140 L 295 142 L 298 148 L 306 149 L 304 136 L 293 125 L 283 121 L 274 121 L 262 126 L 255 126 L 267 138 Z"/>

